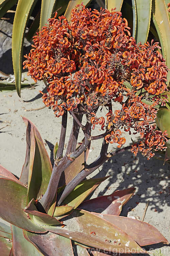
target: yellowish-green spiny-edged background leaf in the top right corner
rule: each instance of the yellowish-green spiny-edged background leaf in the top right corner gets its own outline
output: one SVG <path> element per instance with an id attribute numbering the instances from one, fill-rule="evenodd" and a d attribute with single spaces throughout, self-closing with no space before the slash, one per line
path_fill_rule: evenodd
<path id="1" fill-rule="evenodd" d="M 154 8 L 155 7 L 155 8 Z M 152 8 L 152 12 L 154 13 L 154 25 L 157 23 L 156 30 L 160 37 L 162 38 L 163 45 L 162 46 L 162 51 L 163 51 L 163 56 L 166 60 L 166 64 L 168 67 L 170 67 L 170 58 L 169 58 L 169 53 L 170 53 L 170 21 L 168 17 L 168 12 L 167 12 L 167 6 L 165 4 L 164 0 L 155 0 L 155 6 Z M 168 73 L 167 76 L 168 83 L 170 81 L 170 72 Z"/>

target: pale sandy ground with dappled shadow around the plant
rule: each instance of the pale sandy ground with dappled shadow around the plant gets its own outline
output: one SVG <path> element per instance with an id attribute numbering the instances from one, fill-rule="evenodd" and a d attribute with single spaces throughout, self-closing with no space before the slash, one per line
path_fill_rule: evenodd
<path id="1" fill-rule="evenodd" d="M 24 75 L 27 77 L 26 73 Z M 21 116 L 27 117 L 36 125 L 51 159 L 53 159 L 53 147 L 59 141 L 61 118 L 54 117 L 53 111 L 48 108 L 27 111 L 43 106 L 39 90 L 44 88 L 45 86 L 41 82 L 36 87 L 23 89 L 21 98 L 17 96 L 16 92 L 0 93 L 0 165 L 17 176 L 21 173 L 26 153 L 26 126 Z M 72 123 L 71 117 L 69 117 L 68 122 L 66 145 Z M 99 129 L 100 127 L 95 128 L 97 133 L 101 133 Z M 83 134 L 81 134 L 79 141 L 82 137 Z M 134 137 L 132 138 L 135 140 Z M 100 143 L 102 143 L 102 140 L 91 143 L 88 163 L 98 156 Z M 130 143 L 131 138 L 128 137 L 125 146 Z M 109 150 L 114 150 L 113 145 L 109 147 Z M 168 163 L 163 165 L 163 161 L 156 158 L 147 160 L 140 154 L 135 157 L 131 152 L 126 151 L 112 157 L 89 175 L 90 177 L 111 175 L 96 189 L 91 197 L 109 195 L 117 189 L 136 187 L 135 195 L 124 206 L 122 215 L 127 216 L 127 210 L 132 208 L 129 214 L 142 218 L 149 200 L 145 222 L 156 227 L 170 242 L 169 168 Z M 145 248 L 147 250 L 161 248 L 163 255 L 169 256 L 169 245 L 162 246 L 163 244 L 156 244 Z"/>

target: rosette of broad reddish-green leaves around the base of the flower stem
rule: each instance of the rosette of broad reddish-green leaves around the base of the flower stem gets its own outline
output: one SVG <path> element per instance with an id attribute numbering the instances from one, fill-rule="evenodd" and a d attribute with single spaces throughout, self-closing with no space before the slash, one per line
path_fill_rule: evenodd
<path id="1" fill-rule="evenodd" d="M 146 253 L 140 247 L 143 245 L 168 243 L 150 224 L 119 216 L 122 205 L 131 198 L 135 188 L 84 201 L 107 177 L 85 180 L 69 194 L 63 202 L 65 205 L 56 206 L 58 198 L 55 197 L 48 213 L 39 211 L 38 200 L 46 191 L 52 167 L 37 128 L 27 118 L 23 120 L 27 125 L 27 153 L 20 179 L 0 167 L 0 187 L 3 188 L 0 216 L 11 223 L 11 228 L 0 223 L 3 256 L 65 256 L 68 253 L 73 256 L 73 246 L 79 256 L 89 253 L 104 256 L 109 251 L 109 255 L 117 251 L 123 256 L 131 252 Z M 73 165 L 70 170 L 73 178 L 77 170 Z M 132 227 L 133 230 L 140 228 L 140 233 L 132 232 Z"/>

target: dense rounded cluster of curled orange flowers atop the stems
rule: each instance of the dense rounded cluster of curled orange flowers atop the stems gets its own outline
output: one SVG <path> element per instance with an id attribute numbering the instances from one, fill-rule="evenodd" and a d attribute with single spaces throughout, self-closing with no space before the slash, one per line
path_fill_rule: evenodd
<path id="1" fill-rule="evenodd" d="M 127 20 L 115 9 L 91 11 L 81 4 L 71 11 L 70 22 L 56 16 L 34 36 L 33 49 L 23 62 L 35 82 L 48 82 L 48 95 L 41 92 L 45 105 L 57 117 L 66 110 L 86 114 L 93 129 L 97 124 L 106 129 L 106 143 L 118 147 L 125 143 L 120 129 L 135 129 L 144 140 L 139 148 L 133 147 L 135 154 L 141 148 L 164 148 L 165 134 L 154 133 L 149 124 L 157 103 L 165 101 L 161 94 L 168 68 L 158 43 L 136 44 Z M 120 110 L 112 112 L 112 102 L 119 102 Z M 106 122 L 96 116 L 99 106 L 111 106 Z M 149 144 L 149 139 L 154 142 Z"/>

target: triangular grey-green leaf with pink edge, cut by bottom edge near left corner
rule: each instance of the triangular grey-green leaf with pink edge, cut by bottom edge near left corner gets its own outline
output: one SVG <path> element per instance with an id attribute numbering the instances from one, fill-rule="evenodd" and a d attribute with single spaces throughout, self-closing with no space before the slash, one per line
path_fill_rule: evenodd
<path id="1" fill-rule="evenodd" d="M 30 243 L 26 238 L 24 238 L 23 230 L 14 225 L 11 225 L 12 229 L 12 240 L 13 240 L 13 252 L 14 255 L 24 255 L 24 256 L 42 256 L 40 251 Z"/>

